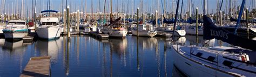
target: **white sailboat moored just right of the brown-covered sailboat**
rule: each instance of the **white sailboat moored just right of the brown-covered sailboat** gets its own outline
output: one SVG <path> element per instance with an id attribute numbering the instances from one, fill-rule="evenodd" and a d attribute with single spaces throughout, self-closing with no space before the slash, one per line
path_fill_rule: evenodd
<path id="1" fill-rule="evenodd" d="M 136 24 L 132 24 L 131 25 L 131 31 L 132 34 L 137 36 L 137 25 Z M 139 24 L 139 36 L 142 37 L 154 37 L 157 35 L 157 31 L 154 30 L 153 25 L 151 24 Z"/>

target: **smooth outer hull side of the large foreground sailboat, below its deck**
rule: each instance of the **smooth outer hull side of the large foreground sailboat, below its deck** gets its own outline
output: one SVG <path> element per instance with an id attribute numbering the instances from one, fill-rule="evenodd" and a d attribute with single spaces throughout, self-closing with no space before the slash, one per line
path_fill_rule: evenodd
<path id="1" fill-rule="evenodd" d="M 187 76 L 241 76 L 239 74 L 218 69 L 216 68 L 216 66 L 208 66 L 202 64 L 201 62 L 192 60 L 194 57 L 188 57 L 192 54 L 189 54 L 189 52 L 186 53 L 180 49 L 178 51 L 177 45 L 172 45 L 171 47 L 171 51 L 173 53 L 174 58 L 174 66 L 176 66 L 181 72 L 183 72 Z M 186 51 L 189 50 L 192 49 L 187 48 Z"/>

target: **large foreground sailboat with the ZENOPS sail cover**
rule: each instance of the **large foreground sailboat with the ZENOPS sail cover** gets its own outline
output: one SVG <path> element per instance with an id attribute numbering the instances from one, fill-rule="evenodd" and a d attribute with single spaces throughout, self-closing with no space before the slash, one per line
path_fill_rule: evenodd
<path id="1" fill-rule="evenodd" d="M 244 3 L 245 0 L 242 8 Z M 256 40 L 239 37 L 218 27 L 207 16 L 203 20 L 205 40 L 215 38 L 240 47 L 172 45 L 174 67 L 188 76 L 255 76 L 256 60 L 253 57 L 256 48 L 253 45 Z"/>

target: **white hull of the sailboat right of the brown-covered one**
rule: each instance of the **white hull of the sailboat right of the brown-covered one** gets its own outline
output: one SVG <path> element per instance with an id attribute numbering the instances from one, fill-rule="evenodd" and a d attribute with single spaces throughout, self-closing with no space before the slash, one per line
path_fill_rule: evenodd
<path id="1" fill-rule="evenodd" d="M 132 30 L 132 35 L 134 36 L 137 36 L 137 30 Z M 149 31 L 142 31 L 142 30 L 139 30 L 139 36 L 142 36 L 142 37 L 154 37 L 156 36 L 157 34 L 157 31 L 154 31 L 154 32 L 149 32 Z"/>

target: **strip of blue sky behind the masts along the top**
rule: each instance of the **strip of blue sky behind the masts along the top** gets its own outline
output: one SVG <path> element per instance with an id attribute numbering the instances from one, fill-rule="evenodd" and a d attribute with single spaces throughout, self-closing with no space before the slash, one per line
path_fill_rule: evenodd
<path id="1" fill-rule="evenodd" d="M 21 1 L 22 0 L 6 0 L 6 13 L 8 13 L 8 10 L 9 10 L 9 13 L 14 12 L 14 9 L 11 10 L 11 8 L 15 6 L 15 1 L 19 1 L 18 2 L 19 7 L 21 7 Z M 33 1 L 35 1 L 35 0 L 33 0 Z M 41 10 L 43 10 L 43 9 L 46 10 L 47 1 L 48 0 L 37 0 L 37 9 L 36 9 L 37 12 L 39 12 L 40 9 Z M 98 12 L 99 5 L 100 5 L 101 10 L 103 12 L 104 0 L 67 0 L 67 1 L 68 1 L 68 5 L 71 8 L 71 11 L 76 11 L 77 9 L 80 9 L 82 1 L 83 1 L 82 5 L 85 8 L 85 1 L 86 1 L 86 8 L 87 8 L 86 10 L 87 10 L 87 12 L 91 12 L 90 11 L 90 9 L 92 9 L 91 8 L 91 6 L 92 6 L 91 1 L 93 1 L 93 12 Z M 159 12 L 162 13 L 163 10 L 162 10 L 161 1 L 164 2 L 164 0 L 143 0 L 144 12 L 146 12 L 146 10 L 147 10 L 147 12 L 154 12 L 156 10 L 156 7 L 157 7 L 157 1 L 159 1 L 159 9 L 160 9 Z M 181 5 L 181 1 L 182 0 L 180 0 L 180 5 Z M 223 3 L 224 5 L 223 5 L 222 10 L 225 9 L 226 1 L 229 1 L 229 0 L 224 0 L 224 3 Z M 237 1 L 238 1 L 237 4 L 240 5 L 241 0 L 237 0 Z M 252 7 L 252 2 L 251 1 L 254 1 L 254 0 L 248 0 L 247 7 L 249 7 L 249 6 Z M 62 0 L 51 0 L 51 2 L 52 2 L 52 9 L 53 10 L 62 11 L 62 6 L 61 6 Z M 99 4 L 99 2 L 100 2 L 100 4 Z M 109 2 L 110 2 L 110 0 L 106 1 L 106 9 L 110 8 L 109 4 L 108 4 Z M 117 4 L 117 2 L 119 3 L 119 5 Z M 122 8 L 122 2 L 125 4 L 126 8 Z M 174 2 L 174 8 L 176 9 L 177 0 L 166 0 L 166 11 L 167 12 L 172 12 L 172 2 Z M 187 11 L 187 7 L 188 7 L 187 2 L 188 2 L 188 0 L 184 0 L 183 12 Z M 219 2 L 221 2 L 221 0 L 219 0 Z M 2 0 L 1 0 L 1 3 L 2 3 Z M 25 13 L 26 13 L 27 5 L 28 5 L 28 8 L 29 8 L 29 12 L 31 12 L 32 0 L 24 0 L 24 3 L 25 3 Z M 194 5 L 194 7 L 191 7 L 191 8 L 196 8 L 196 6 L 198 6 L 199 12 L 202 13 L 203 0 L 192 0 L 192 3 Z M 14 5 L 12 5 L 12 4 L 14 4 Z M 64 0 L 64 4 L 65 4 L 65 0 Z M 137 9 L 137 7 L 140 6 L 140 0 L 113 0 L 113 11 L 117 11 L 117 6 L 118 6 L 119 9 L 123 9 L 125 11 L 127 11 L 127 8 L 129 8 L 128 12 L 132 13 L 132 11 L 131 11 L 132 8 L 134 8 L 133 10 L 135 11 Z M 147 8 L 145 8 L 145 6 L 147 6 Z M 155 8 L 155 9 L 150 10 L 150 8 Z M 209 13 L 215 12 L 216 8 L 217 8 L 217 0 L 208 0 L 208 12 Z M 1 6 L 1 9 L 2 9 L 2 6 Z M 21 9 L 21 8 L 19 8 L 19 9 Z M 119 12 L 120 11 L 121 10 L 119 10 Z M 1 13 L 2 13 L 2 10 L 1 10 Z"/>

